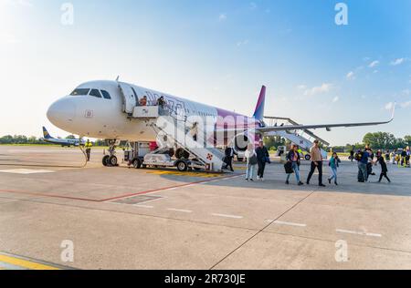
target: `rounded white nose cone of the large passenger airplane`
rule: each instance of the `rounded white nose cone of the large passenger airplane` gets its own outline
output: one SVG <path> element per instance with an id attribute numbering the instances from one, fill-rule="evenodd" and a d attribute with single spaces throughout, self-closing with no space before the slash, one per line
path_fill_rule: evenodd
<path id="1" fill-rule="evenodd" d="M 68 98 L 53 103 L 47 110 L 48 120 L 60 129 L 76 118 L 76 105 Z"/>

